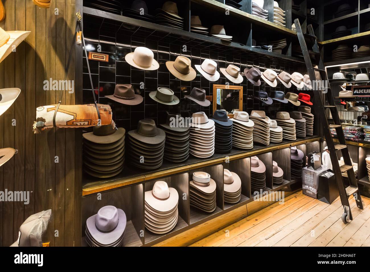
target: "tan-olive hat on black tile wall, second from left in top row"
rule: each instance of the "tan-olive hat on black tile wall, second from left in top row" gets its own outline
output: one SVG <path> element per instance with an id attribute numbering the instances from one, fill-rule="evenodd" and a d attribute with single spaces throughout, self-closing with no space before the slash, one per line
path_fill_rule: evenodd
<path id="1" fill-rule="evenodd" d="M 196 71 L 187 57 L 178 56 L 175 61 L 166 61 L 166 67 L 178 79 L 191 81 L 196 77 Z"/>

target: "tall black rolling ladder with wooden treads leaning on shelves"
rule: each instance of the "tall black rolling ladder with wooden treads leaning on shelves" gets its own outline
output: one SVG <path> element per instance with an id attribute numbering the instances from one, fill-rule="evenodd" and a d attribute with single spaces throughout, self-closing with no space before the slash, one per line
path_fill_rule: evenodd
<path id="1" fill-rule="evenodd" d="M 319 46 L 317 45 L 316 37 L 312 28 L 312 25 L 308 25 L 308 34 L 304 34 L 302 32 L 302 28 L 300 26 L 299 20 L 295 19 L 294 23 L 296 25 L 297 36 L 299 39 L 300 46 L 302 48 L 303 57 L 305 58 L 306 67 L 308 74 L 310 76 L 310 80 L 312 83 L 314 100 L 316 103 L 317 111 L 320 116 L 321 124 L 323 127 L 324 136 L 326 139 L 327 147 L 330 151 L 330 159 L 332 161 L 332 166 L 334 170 L 334 175 L 336 178 L 336 182 L 338 185 L 340 201 L 342 202 L 344 212 L 342 215 L 342 221 L 344 223 L 349 222 L 352 220 L 352 213 L 351 208 L 349 205 L 349 197 L 351 195 L 354 196 L 356 200 L 356 205 L 358 208 L 363 209 L 363 202 L 361 199 L 359 187 L 357 185 L 357 179 L 354 175 L 351 158 L 349 155 L 349 151 L 346 144 L 346 139 L 344 138 L 344 133 L 342 130 L 342 125 L 340 124 L 340 119 L 337 111 L 337 107 L 334 103 L 334 97 L 330 87 L 317 87 L 324 80 L 325 82 L 329 82 L 326 74 L 326 70 L 323 64 L 323 60 L 320 55 Z M 313 50 L 308 50 L 306 41 L 312 46 Z M 313 57 L 317 63 L 312 64 L 311 57 Z M 327 86 L 330 86 L 329 84 Z M 323 94 L 323 95 L 322 95 Z M 323 99 L 322 99 L 323 97 Z M 326 99 L 325 99 L 326 98 Z M 327 103 L 324 103 L 326 100 Z M 327 104 L 327 105 L 324 105 Z M 326 108 L 329 108 L 330 113 L 332 114 L 332 118 L 334 124 L 328 124 L 326 117 Z M 339 144 L 334 144 L 332 134 L 330 129 L 335 129 L 337 132 L 337 137 L 339 140 Z M 340 150 L 342 152 L 344 165 L 340 166 L 339 161 L 337 158 L 336 151 Z M 343 182 L 342 173 L 347 172 L 348 179 L 349 179 L 349 186 L 345 187 Z M 340 173 L 339 175 L 337 173 Z"/>

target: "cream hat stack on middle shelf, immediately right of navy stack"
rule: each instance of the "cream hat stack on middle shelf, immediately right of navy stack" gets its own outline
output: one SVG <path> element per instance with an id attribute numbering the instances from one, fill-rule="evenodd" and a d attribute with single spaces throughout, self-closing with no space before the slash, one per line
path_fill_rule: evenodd
<path id="1" fill-rule="evenodd" d="M 254 122 L 249 120 L 245 111 L 234 111 L 232 126 L 232 146 L 241 149 L 253 148 L 253 126 Z"/>

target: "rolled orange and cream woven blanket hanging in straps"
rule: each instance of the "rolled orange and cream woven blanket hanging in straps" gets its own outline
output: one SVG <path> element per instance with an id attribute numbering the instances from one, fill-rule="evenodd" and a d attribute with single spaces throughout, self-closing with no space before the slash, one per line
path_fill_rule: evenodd
<path id="1" fill-rule="evenodd" d="M 100 113 L 100 125 L 112 124 L 112 110 L 110 105 L 97 104 Z M 33 132 L 48 130 L 53 126 L 53 117 L 57 105 L 41 106 L 36 108 L 36 121 L 33 123 Z M 55 125 L 59 128 L 82 128 L 98 125 L 98 113 L 95 104 L 60 105 L 55 117 Z"/>

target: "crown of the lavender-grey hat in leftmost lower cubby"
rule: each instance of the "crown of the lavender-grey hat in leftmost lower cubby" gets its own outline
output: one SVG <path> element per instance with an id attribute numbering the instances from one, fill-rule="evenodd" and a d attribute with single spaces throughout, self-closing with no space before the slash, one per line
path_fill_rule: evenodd
<path id="1" fill-rule="evenodd" d="M 95 226 L 99 231 L 110 232 L 118 225 L 118 210 L 115 206 L 104 206 L 99 209 Z"/>

